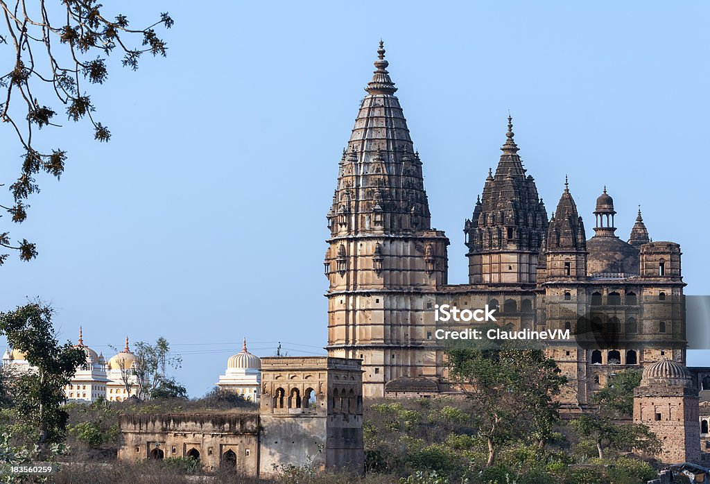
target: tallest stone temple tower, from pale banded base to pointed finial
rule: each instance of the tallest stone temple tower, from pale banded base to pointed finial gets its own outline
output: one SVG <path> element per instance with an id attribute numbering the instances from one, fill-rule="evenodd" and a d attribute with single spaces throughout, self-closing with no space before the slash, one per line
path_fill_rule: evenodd
<path id="1" fill-rule="evenodd" d="M 431 228 L 422 162 L 382 43 L 377 53 L 339 163 L 324 263 L 328 353 L 361 360 L 365 397 L 383 396 L 390 380 L 435 371 L 436 353 L 426 345 L 434 327 L 424 313 L 447 282 L 449 244 Z"/>

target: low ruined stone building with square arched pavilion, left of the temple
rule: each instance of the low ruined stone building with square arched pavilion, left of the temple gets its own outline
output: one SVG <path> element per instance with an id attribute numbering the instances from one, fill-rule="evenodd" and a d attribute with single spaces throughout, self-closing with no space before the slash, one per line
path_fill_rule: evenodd
<path id="1" fill-rule="evenodd" d="M 121 415 L 119 459 L 192 457 L 208 470 L 364 470 L 359 360 L 261 359 L 258 412 Z"/>

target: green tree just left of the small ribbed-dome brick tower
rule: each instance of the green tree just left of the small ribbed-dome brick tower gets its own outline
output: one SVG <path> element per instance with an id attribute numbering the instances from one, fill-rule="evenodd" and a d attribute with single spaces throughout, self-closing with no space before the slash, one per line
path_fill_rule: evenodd
<path id="1" fill-rule="evenodd" d="M 661 442 L 644 424 L 618 424 L 616 420 L 633 414 L 633 389 L 641 374 L 623 370 L 611 375 L 608 385 L 591 397 L 591 407 L 572 421 L 572 429 L 582 439 L 594 442 L 599 458 L 605 449 L 658 453 Z"/>

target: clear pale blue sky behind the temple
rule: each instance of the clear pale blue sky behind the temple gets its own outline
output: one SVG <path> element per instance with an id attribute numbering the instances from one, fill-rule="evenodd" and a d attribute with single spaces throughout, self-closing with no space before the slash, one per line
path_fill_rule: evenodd
<path id="1" fill-rule="evenodd" d="M 136 26 L 170 12 L 168 57 L 135 73 L 109 63 L 92 99 L 110 143 L 86 123 L 41 133 L 70 158 L 60 182 L 40 179 L 28 221 L 3 228 L 39 257 L 0 268 L 1 308 L 40 296 L 62 338 L 82 324 L 107 356 L 126 334 L 165 336 L 190 395 L 209 390 L 243 336 L 259 356 L 278 341 L 324 353 L 325 214 L 380 38 L 432 225 L 452 241 L 450 282 L 466 281 L 464 219 L 510 109 L 548 211 L 569 175 L 591 235 L 606 185 L 618 235 L 641 204 L 651 237 L 681 244 L 687 294 L 710 294 L 708 4 L 196 5 L 124 3 Z M 8 182 L 20 150 L 7 126 L 0 142 Z"/>

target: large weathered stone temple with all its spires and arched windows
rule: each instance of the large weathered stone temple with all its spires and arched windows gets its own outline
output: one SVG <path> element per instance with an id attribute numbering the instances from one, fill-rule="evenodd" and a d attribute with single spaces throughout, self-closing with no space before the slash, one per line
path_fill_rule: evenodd
<path id="1" fill-rule="evenodd" d="M 569 378 L 562 396 L 569 409 L 586 404 L 620 367 L 664 357 L 684 364 L 679 245 L 650 242 L 640 211 L 628 243 L 618 238 L 606 187 L 593 237 L 567 182 L 548 219 L 510 118 L 498 166 L 464 223 L 469 283 L 448 284 L 449 241 L 432 229 L 422 162 L 384 53 L 381 45 L 327 214 L 327 348 L 362 361 L 365 397 L 401 396 L 408 382 L 417 382 L 414 394 L 431 394 L 420 378 L 453 390 L 435 334 L 457 327 L 437 324 L 437 304 L 498 307 L 506 329 L 569 329 L 569 340 L 547 343 Z"/>

